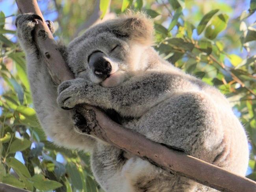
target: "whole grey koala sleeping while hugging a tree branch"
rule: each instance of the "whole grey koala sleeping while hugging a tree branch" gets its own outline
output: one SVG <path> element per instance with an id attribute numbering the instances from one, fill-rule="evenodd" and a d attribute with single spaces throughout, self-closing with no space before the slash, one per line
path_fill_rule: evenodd
<path id="1" fill-rule="evenodd" d="M 213 192 L 128 154 L 79 126 L 80 104 L 100 107 L 123 127 L 244 176 L 247 136 L 219 90 L 162 59 L 152 48 L 154 27 L 128 12 L 89 28 L 65 48 L 75 79 L 55 85 L 37 50 L 37 15 L 17 17 L 33 103 L 46 134 L 59 146 L 89 151 L 96 181 L 106 192 Z M 204 171 L 204 170 L 202 170 Z M 206 170 L 205 170 L 206 171 Z"/>

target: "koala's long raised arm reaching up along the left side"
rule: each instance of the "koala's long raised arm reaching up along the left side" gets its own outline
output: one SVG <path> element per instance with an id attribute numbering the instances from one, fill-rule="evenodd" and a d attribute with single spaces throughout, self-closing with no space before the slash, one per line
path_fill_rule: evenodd
<path id="1" fill-rule="evenodd" d="M 26 53 L 28 78 L 37 116 L 46 134 L 56 144 L 91 151 L 95 140 L 75 132 L 71 112 L 57 105 L 57 86 L 53 83 L 33 40 L 33 31 L 37 24 L 35 19 L 41 18 L 32 14 L 19 15 L 16 26 L 20 45 Z"/>

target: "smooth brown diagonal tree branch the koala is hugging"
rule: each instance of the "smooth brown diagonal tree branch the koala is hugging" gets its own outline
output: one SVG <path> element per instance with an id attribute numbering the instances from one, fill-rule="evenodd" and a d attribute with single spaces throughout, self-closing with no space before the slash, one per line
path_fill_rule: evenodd
<path id="1" fill-rule="evenodd" d="M 21 13 L 33 12 L 43 18 L 36 0 L 16 0 Z M 42 38 L 38 33 L 45 30 L 48 37 Z M 59 53 L 48 26 L 39 22 L 35 38 L 41 55 L 45 58 L 54 82 L 60 83 L 72 79 L 72 73 Z M 106 114 L 95 107 L 85 107 L 93 110 L 98 126 L 91 134 L 106 142 L 137 155 L 149 162 L 170 171 L 171 173 L 188 177 L 223 192 L 255 192 L 256 182 L 228 172 L 222 168 L 204 162 L 185 153 L 152 142 L 147 138 L 125 129 L 113 122 Z"/>

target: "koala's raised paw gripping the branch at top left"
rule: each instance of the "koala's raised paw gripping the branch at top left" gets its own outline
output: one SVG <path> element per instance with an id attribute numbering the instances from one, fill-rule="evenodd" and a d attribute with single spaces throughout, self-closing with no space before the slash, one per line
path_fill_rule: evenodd
<path id="1" fill-rule="evenodd" d="M 15 25 L 20 41 L 33 42 L 33 33 L 35 26 L 38 24 L 37 19 L 42 21 L 41 17 L 33 13 L 24 13 L 17 16 Z"/>

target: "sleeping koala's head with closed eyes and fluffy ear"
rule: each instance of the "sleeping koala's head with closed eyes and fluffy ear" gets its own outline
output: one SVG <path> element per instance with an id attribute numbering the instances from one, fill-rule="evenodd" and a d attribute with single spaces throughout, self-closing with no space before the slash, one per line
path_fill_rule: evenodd
<path id="1" fill-rule="evenodd" d="M 152 21 L 142 13 L 121 15 L 93 26 L 68 46 L 76 78 L 115 87 L 147 66 L 145 50 L 153 43 Z"/>

